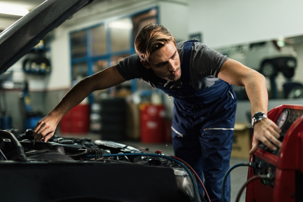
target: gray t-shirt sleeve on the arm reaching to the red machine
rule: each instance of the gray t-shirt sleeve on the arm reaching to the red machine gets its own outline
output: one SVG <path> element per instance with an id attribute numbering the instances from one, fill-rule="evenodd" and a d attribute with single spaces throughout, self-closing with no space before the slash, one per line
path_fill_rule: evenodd
<path id="1" fill-rule="evenodd" d="M 196 43 L 195 45 L 196 47 L 192 57 L 193 68 L 202 77 L 214 76 L 217 78 L 219 70 L 228 57 L 204 44 Z"/>

